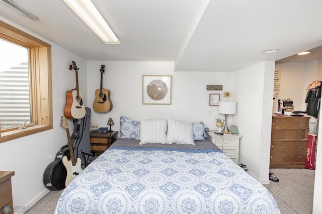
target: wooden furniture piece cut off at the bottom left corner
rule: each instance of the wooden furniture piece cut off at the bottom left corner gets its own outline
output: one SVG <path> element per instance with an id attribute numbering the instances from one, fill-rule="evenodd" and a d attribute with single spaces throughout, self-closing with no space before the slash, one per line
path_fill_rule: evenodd
<path id="1" fill-rule="evenodd" d="M 0 212 L 14 213 L 14 203 L 12 199 L 11 177 L 14 171 L 0 171 Z M 8 211 L 8 212 L 7 212 Z"/>

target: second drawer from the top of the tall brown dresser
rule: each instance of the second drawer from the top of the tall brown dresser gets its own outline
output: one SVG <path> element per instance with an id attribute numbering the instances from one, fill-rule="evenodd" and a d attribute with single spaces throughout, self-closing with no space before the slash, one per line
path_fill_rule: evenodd
<path id="1" fill-rule="evenodd" d="M 272 129 L 272 141 L 277 139 L 307 139 L 304 129 Z"/>

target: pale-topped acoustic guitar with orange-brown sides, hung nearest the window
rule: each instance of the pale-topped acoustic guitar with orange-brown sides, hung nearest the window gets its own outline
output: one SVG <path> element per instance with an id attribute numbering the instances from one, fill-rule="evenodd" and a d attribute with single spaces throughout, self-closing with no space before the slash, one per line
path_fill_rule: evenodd
<path id="1" fill-rule="evenodd" d="M 72 61 L 69 65 L 69 70 L 75 70 L 76 88 L 66 92 L 66 104 L 64 108 L 64 115 L 66 118 L 81 119 L 85 117 L 86 109 L 83 103 L 83 93 L 78 89 L 78 69 L 76 63 Z"/>

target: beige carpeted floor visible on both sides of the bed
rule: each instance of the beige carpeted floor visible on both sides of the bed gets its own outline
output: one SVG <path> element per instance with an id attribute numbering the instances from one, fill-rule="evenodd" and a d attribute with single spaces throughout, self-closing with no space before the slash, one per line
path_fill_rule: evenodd
<path id="1" fill-rule="evenodd" d="M 274 196 L 282 214 L 312 213 L 315 170 L 308 169 L 270 169 L 279 182 L 264 185 Z M 27 213 L 54 213 L 60 191 L 50 191 Z"/>

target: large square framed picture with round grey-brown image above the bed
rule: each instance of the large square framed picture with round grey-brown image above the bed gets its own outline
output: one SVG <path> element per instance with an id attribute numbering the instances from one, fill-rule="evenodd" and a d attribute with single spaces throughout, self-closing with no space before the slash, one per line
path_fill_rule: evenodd
<path id="1" fill-rule="evenodd" d="M 171 84 L 171 75 L 142 75 L 142 104 L 171 105 Z"/>

